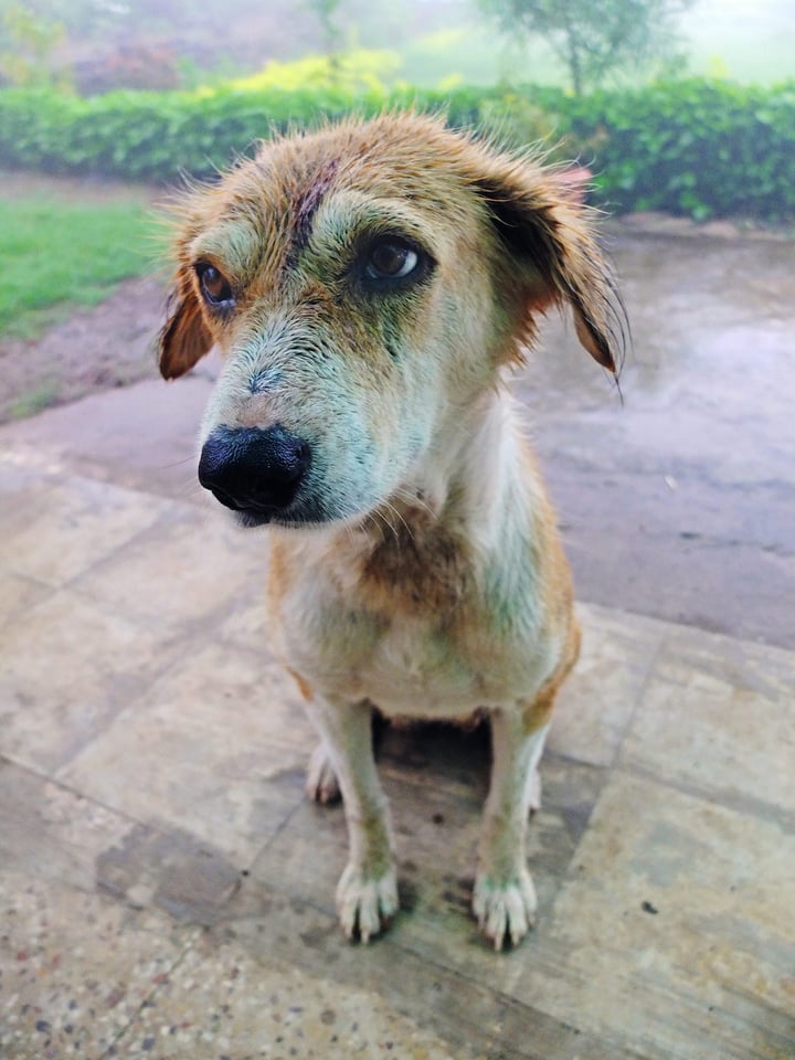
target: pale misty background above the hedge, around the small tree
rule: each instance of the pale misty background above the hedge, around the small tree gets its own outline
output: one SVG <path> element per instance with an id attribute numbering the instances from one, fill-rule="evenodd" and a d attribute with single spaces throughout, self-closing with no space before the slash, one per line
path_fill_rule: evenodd
<path id="1" fill-rule="evenodd" d="M 565 71 L 538 34 L 502 32 L 477 0 L 29 0 L 0 3 L 0 85 L 61 81 L 82 95 L 194 88 L 309 53 L 373 56 L 388 86 L 534 82 Z M 325 12 L 325 15 L 324 15 Z M 792 0 L 696 0 L 677 19 L 671 72 L 771 84 L 795 75 Z M 606 81 L 621 80 L 613 73 Z"/>

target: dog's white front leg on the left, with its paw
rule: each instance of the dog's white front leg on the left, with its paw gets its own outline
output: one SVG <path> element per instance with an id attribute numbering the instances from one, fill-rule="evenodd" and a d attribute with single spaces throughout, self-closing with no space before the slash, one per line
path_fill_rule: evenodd
<path id="1" fill-rule="evenodd" d="M 337 911 L 349 939 L 368 942 L 398 912 L 398 881 L 386 796 L 375 770 L 368 702 L 316 698 L 309 704 L 342 793 L 348 865 L 337 886 Z"/>

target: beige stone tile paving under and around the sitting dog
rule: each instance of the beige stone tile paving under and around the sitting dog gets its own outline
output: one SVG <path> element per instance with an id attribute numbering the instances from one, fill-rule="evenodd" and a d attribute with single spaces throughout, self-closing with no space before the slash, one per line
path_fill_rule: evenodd
<path id="1" fill-rule="evenodd" d="M 267 537 L 193 486 L 208 388 L 0 431 L 0 1057 L 795 1056 L 795 653 L 580 606 L 502 955 L 468 914 L 486 736 L 384 729 L 402 912 L 351 945 Z"/>

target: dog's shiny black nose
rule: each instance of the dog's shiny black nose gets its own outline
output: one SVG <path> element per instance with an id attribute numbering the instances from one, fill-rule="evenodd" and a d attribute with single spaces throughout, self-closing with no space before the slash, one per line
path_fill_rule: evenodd
<path id="1" fill-rule="evenodd" d="M 202 446 L 199 481 L 234 511 L 274 515 L 294 500 L 310 454 L 278 424 L 266 431 L 216 427 Z"/>

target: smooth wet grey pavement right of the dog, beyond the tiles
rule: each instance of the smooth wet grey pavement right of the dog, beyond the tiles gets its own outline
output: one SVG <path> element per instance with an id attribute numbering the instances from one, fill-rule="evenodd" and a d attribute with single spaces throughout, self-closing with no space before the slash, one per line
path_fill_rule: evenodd
<path id="1" fill-rule="evenodd" d="M 623 404 L 560 326 L 518 384 L 579 594 L 795 647 L 795 242 L 611 232 Z"/>

